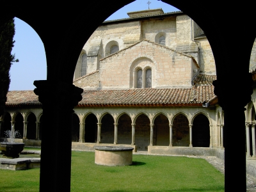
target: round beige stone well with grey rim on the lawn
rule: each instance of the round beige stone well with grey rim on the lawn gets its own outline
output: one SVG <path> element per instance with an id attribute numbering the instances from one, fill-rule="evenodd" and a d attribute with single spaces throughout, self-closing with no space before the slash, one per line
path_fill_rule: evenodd
<path id="1" fill-rule="evenodd" d="M 132 164 L 133 147 L 100 146 L 95 147 L 95 164 L 124 166 Z"/>

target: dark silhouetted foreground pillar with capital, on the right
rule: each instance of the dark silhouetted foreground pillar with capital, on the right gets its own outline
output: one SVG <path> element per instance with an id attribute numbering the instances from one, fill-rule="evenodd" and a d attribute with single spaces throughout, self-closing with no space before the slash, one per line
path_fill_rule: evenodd
<path id="1" fill-rule="evenodd" d="M 232 46 L 234 47 L 234 46 Z M 232 48 L 235 50 L 235 48 Z M 218 49 L 215 49 L 216 51 Z M 252 74 L 248 73 L 248 67 L 241 70 L 241 68 L 232 67 L 227 68 L 228 65 L 239 65 L 244 63 L 244 58 L 232 58 L 232 52 L 220 51 L 218 56 L 214 56 L 218 80 L 212 82 L 214 85 L 214 94 L 218 96 L 218 104 L 221 106 L 224 115 L 224 127 L 223 127 L 223 141 L 225 142 L 225 191 L 246 191 L 246 156 L 244 143 L 244 127 L 245 117 L 244 107 L 251 101 L 251 95 L 253 93 Z M 212 50 L 214 51 L 214 50 Z M 247 59 L 250 58 L 250 52 L 252 50 L 243 50 L 244 57 L 247 51 Z M 231 58 L 231 59 L 230 59 Z M 223 65 L 225 63 L 225 65 Z M 226 66 L 226 67 L 225 67 Z M 220 68 L 223 70 L 221 71 Z M 237 86 L 237 83 L 230 83 L 230 76 L 227 74 L 239 73 L 239 84 L 243 86 Z M 232 97 L 232 93 L 236 90 L 236 97 Z M 239 98 L 239 99 L 237 99 Z M 234 141 L 239 140 L 241 145 L 234 145 Z M 236 168 L 234 169 L 234 155 L 236 155 Z M 239 174 L 237 174 L 239 173 Z"/>

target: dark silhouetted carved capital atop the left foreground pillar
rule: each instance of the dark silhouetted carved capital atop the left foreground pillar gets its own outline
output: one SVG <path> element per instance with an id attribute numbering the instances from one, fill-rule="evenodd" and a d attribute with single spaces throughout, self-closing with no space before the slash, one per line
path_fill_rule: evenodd
<path id="1" fill-rule="evenodd" d="M 83 99 L 83 89 L 61 81 L 49 82 L 47 80 L 34 81 L 34 93 L 43 104 L 43 108 L 57 106 L 61 110 L 72 110 Z"/>

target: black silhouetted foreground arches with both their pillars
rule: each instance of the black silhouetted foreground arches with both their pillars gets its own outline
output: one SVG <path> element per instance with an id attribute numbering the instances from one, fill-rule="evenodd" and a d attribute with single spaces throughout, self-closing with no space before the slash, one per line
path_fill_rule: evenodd
<path id="1" fill-rule="evenodd" d="M 46 131 L 42 131 L 40 191 L 48 191 L 49 186 L 52 191 L 70 191 L 72 109 L 81 100 L 83 92 L 72 85 L 76 61 L 83 45 L 97 26 L 111 13 L 131 2 L 131 0 L 98 0 L 88 4 L 87 9 L 84 6 L 77 6 L 75 2 L 56 5 L 44 3 L 34 6 L 22 1 L 17 2 L 14 7 L 12 1 L 1 4 L 5 9 L 0 13 L 0 26 L 12 17 L 19 17 L 35 29 L 45 45 L 47 80 L 35 81 L 35 93 L 40 95 L 39 100 L 43 104 L 44 124 L 52 132 L 49 135 Z M 163 2 L 172 4 L 195 20 L 205 31 L 211 44 L 218 77 L 218 81 L 214 83 L 215 93 L 220 106 L 225 111 L 225 191 L 236 191 L 236 189 L 246 191 L 245 148 L 244 145 L 237 145 L 235 148 L 233 138 L 240 138 L 239 136 L 244 134 L 244 129 L 241 129 L 244 127 L 244 106 L 250 102 L 252 94 L 252 76 L 248 74 L 248 66 L 256 34 L 256 29 L 251 28 L 252 23 L 255 22 L 253 1 L 243 1 L 232 6 L 223 4 L 222 1 L 214 1 L 211 6 L 195 4 L 193 1 L 184 3 L 163 0 Z M 10 7 L 12 12 L 8 9 Z M 47 17 L 44 17 L 45 10 Z M 67 14 L 70 10 L 76 10 L 76 14 Z M 100 14 L 91 20 L 86 20 L 86 25 L 81 24 L 84 18 L 90 18 L 95 10 Z M 230 15 L 237 15 L 237 10 L 242 17 L 230 19 Z M 234 56 L 234 52 L 237 52 L 236 39 L 241 35 L 237 30 L 237 23 L 243 23 L 246 31 L 243 41 L 239 41 L 239 46 L 243 47 L 239 49 L 239 57 Z M 223 33 L 228 34 L 228 38 L 223 36 Z M 230 83 L 232 77 L 228 74 L 232 77 L 234 74 L 239 74 L 239 79 Z M 234 90 L 236 96 L 230 97 Z M 60 100 L 62 102 L 58 102 Z M 62 105 L 64 102 L 65 106 Z M 233 113 L 234 111 L 236 113 Z M 237 128 L 234 130 L 234 127 Z M 245 143 L 244 138 L 240 141 Z M 52 151 L 47 150 L 48 148 L 52 148 Z M 234 154 L 236 154 L 236 170 L 232 166 Z"/>

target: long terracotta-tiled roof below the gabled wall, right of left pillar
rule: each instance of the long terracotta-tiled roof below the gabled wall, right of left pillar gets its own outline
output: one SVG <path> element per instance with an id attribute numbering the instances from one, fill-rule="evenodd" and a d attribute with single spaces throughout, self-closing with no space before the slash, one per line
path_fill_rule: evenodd
<path id="1" fill-rule="evenodd" d="M 215 96 L 213 90 L 212 85 L 193 88 L 84 90 L 78 106 L 191 106 L 212 99 Z"/>

